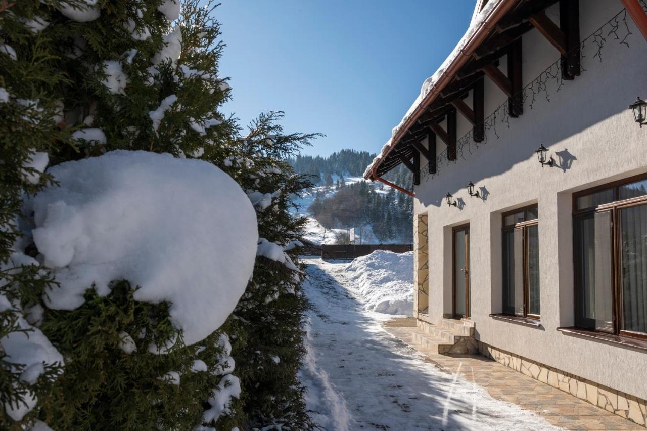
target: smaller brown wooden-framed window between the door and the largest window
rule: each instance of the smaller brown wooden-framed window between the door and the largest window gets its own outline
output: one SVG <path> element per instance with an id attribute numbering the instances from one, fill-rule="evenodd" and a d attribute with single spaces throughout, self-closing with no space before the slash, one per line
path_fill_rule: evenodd
<path id="1" fill-rule="evenodd" d="M 539 320 L 539 213 L 536 205 L 503 214 L 503 314 Z"/>

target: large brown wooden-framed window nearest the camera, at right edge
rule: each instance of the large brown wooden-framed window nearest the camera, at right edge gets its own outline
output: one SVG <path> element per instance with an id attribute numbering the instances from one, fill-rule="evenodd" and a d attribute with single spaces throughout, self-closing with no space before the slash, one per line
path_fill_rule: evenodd
<path id="1" fill-rule="evenodd" d="M 647 338 L 647 174 L 573 195 L 575 326 Z"/>

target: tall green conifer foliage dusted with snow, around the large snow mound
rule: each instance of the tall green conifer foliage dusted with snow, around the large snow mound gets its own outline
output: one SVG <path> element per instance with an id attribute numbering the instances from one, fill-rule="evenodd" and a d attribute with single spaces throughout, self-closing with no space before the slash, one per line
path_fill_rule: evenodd
<path id="1" fill-rule="evenodd" d="M 307 302 L 294 241 L 304 221 L 290 200 L 312 184 L 285 160 L 316 134 L 284 134 L 282 113 L 269 113 L 241 137 L 236 119 L 221 113 L 230 89 L 219 76 L 214 3 L 186 0 L 179 17 L 169 0 L 0 5 L 0 293 L 12 300 L 0 311 L 0 337 L 21 330 L 21 313 L 43 307 L 39 330 L 65 358 L 26 384 L 0 352 L 0 401 L 38 397 L 22 420 L 3 410 L 0 428 L 37 419 L 54 430 L 313 428 L 297 377 Z M 51 183 L 29 165 L 36 152 L 51 165 L 114 149 L 200 158 L 243 190 L 269 194 L 256 205 L 259 236 L 285 247 L 285 261 L 259 256 L 236 311 L 197 344 L 184 345 L 169 304 L 135 301 L 138 286 L 128 280 L 115 280 L 107 296 L 88 286 L 74 310 L 47 309 L 52 276 L 11 259 L 21 241 L 16 219 L 29 222 L 22 200 Z M 38 255 L 33 243 L 21 250 Z M 238 381 L 240 394 L 215 407 Z"/>

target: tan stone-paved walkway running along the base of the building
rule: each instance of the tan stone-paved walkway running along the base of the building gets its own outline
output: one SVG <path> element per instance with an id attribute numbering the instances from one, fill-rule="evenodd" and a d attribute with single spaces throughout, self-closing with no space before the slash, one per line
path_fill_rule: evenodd
<path id="1" fill-rule="evenodd" d="M 428 349 L 413 344 L 413 327 L 415 318 L 396 318 L 384 324 L 388 333 L 423 353 L 426 361 L 439 369 L 459 373 L 468 381 L 485 388 L 492 397 L 536 412 L 555 426 L 567 430 L 646 429 L 481 355 L 446 356 L 430 353 Z"/>

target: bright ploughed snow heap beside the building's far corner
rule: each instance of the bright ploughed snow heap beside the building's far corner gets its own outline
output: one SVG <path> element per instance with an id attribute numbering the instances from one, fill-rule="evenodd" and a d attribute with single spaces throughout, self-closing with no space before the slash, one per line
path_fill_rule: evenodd
<path id="1" fill-rule="evenodd" d="M 367 310 L 413 314 L 413 252 L 376 250 L 349 263 L 345 276 L 355 281 Z"/>

